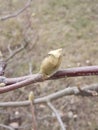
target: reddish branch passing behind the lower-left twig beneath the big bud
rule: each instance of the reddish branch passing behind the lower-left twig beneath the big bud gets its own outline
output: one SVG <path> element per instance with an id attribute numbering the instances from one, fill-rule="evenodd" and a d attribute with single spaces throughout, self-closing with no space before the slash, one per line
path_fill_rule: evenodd
<path id="1" fill-rule="evenodd" d="M 4 82 L 6 83 L 6 85 L 14 84 L 32 78 L 34 75 L 36 74 L 33 75 L 30 74 L 27 76 L 16 77 L 16 78 L 6 78 L 1 76 L 0 82 Z M 67 68 L 67 69 L 58 70 L 56 73 L 54 73 L 46 80 L 54 80 L 54 79 L 60 79 L 66 77 L 77 77 L 77 76 L 94 76 L 94 75 L 98 75 L 98 66 L 84 66 L 84 67 Z"/>

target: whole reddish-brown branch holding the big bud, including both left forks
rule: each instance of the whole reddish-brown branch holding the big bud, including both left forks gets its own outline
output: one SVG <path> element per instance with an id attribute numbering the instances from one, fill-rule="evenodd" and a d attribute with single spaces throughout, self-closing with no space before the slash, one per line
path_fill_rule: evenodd
<path id="1" fill-rule="evenodd" d="M 43 75 L 39 73 L 18 78 L 6 78 L 1 76 L 0 82 L 5 83 L 6 86 L 0 88 L 0 94 L 27 86 L 32 83 L 43 82 L 45 80 L 54 80 L 76 76 L 94 76 L 94 75 L 98 75 L 98 66 L 85 66 L 85 67 L 58 70 L 55 74 L 53 74 L 47 79 L 43 79 Z"/>

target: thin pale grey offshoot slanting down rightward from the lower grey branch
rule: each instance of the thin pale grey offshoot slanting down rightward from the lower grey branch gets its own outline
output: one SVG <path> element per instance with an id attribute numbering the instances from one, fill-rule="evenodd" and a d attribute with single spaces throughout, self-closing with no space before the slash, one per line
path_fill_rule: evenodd
<path id="1" fill-rule="evenodd" d="M 54 112 L 55 116 L 57 117 L 57 120 L 58 120 L 58 122 L 59 122 L 59 124 L 61 126 L 61 129 L 62 130 L 66 130 L 66 128 L 64 127 L 63 121 L 62 121 L 58 111 L 55 109 L 55 107 L 52 105 L 52 103 L 48 101 L 47 105 Z"/>

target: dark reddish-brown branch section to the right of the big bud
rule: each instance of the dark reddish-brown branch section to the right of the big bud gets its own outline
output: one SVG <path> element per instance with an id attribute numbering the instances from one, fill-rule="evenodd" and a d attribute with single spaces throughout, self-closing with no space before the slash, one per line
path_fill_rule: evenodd
<path id="1" fill-rule="evenodd" d="M 98 75 L 98 66 L 84 66 L 76 68 L 67 68 L 57 71 L 50 79 L 58 79 L 65 77 L 92 76 Z"/>

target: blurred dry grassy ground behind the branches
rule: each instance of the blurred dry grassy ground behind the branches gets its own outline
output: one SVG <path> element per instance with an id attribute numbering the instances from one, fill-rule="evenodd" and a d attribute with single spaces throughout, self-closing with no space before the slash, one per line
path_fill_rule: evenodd
<path id="1" fill-rule="evenodd" d="M 17 13 L 27 0 L 0 0 L 0 18 Z M 15 49 L 28 45 L 9 60 L 6 77 L 18 77 L 39 71 L 40 63 L 50 50 L 63 48 L 61 68 L 98 64 L 98 0 L 32 0 L 30 6 L 16 17 L 0 20 L 0 51 L 6 59 L 9 46 Z M 23 101 L 33 90 L 35 98 L 68 86 L 97 83 L 97 76 L 74 77 L 29 85 L 0 95 L 0 101 Z M 98 97 L 65 96 L 53 101 L 67 130 L 98 130 Z M 36 105 L 40 130 L 60 130 L 53 113 L 44 104 Z M 32 115 L 28 107 L 0 108 L 0 123 L 18 112 L 19 130 L 31 130 Z M 5 130 L 4 128 L 0 128 Z"/>

